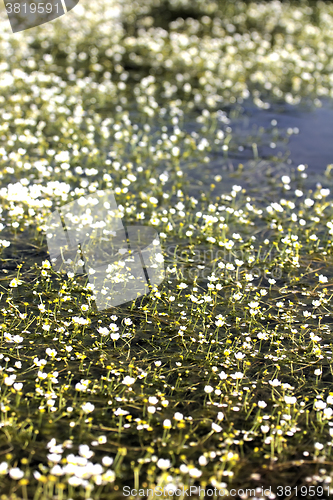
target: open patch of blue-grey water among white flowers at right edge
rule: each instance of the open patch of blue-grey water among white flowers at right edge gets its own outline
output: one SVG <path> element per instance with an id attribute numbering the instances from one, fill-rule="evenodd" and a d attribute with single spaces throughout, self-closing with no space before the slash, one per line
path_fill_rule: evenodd
<path id="1" fill-rule="evenodd" d="M 332 185 L 332 179 L 324 174 L 333 163 L 333 100 L 322 100 L 322 107 L 271 103 L 269 109 L 247 101 L 228 115 L 232 129 L 228 155 L 215 152 L 205 168 L 194 169 L 193 193 L 210 185 L 212 175 L 217 174 L 223 176 L 223 187 L 220 185 L 216 194 L 235 183 L 249 190 L 260 183 L 262 192 L 269 192 L 268 177 L 280 181 L 300 164 L 307 166 L 305 187 L 313 189 L 318 182 L 325 187 Z M 239 164 L 243 165 L 241 175 L 236 174 Z"/>

